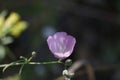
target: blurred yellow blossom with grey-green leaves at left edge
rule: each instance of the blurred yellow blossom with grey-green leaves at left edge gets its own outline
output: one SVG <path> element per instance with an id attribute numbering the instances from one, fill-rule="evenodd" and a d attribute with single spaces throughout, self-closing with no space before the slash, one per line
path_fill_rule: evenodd
<path id="1" fill-rule="evenodd" d="M 6 11 L 0 13 L 0 60 L 5 57 L 6 48 L 9 49 L 7 45 L 14 41 L 14 37 L 19 37 L 27 26 L 28 23 L 21 21 L 20 15 L 16 12 L 9 15 Z"/>

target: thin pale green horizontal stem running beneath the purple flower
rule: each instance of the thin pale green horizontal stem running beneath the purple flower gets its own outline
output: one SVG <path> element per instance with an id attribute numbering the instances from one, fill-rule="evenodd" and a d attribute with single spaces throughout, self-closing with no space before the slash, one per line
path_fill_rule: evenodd
<path id="1" fill-rule="evenodd" d="M 52 62 L 29 62 L 29 63 L 24 63 L 24 62 L 16 62 L 12 64 L 11 66 L 18 66 L 18 65 L 23 65 L 23 64 L 29 64 L 29 65 L 39 65 L 39 64 L 62 64 L 63 62 L 61 61 L 52 61 Z M 5 67 L 9 64 L 2 64 L 0 65 L 0 68 Z"/>

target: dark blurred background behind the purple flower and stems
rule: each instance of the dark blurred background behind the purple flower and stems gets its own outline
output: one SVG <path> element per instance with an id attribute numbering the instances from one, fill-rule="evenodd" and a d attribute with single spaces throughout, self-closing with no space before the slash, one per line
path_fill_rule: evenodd
<path id="1" fill-rule="evenodd" d="M 0 0 L 0 12 L 17 12 L 28 27 L 7 46 L 0 46 L 0 64 L 29 57 L 33 61 L 57 60 L 48 49 L 46 39 L 64 31 L 77 40 L 73 54 L 76 61 L 85 60 L 72 80 L 120 80 L 120 0 Z M 0 78 L 18 80 L 20 66 L 8 68 Z M 22 80 L 55 80 L 61 76 L 63 65 L 26 65 Z M 92 77 L 91 77 L 92 76 Z"/>

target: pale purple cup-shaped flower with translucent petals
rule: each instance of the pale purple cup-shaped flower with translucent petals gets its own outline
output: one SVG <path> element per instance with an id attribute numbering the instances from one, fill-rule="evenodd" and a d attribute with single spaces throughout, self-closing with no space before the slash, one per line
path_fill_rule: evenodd
<path id="1" fill-rule="evenodd" d="M 72 54 L 76 39 L 71 35 L 67 35 L 66 32 L 57 32 L 48 37 L 47 43 L 56 58 L 65 59 Z"/>

